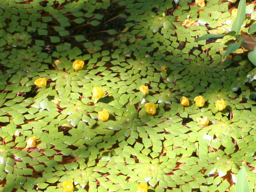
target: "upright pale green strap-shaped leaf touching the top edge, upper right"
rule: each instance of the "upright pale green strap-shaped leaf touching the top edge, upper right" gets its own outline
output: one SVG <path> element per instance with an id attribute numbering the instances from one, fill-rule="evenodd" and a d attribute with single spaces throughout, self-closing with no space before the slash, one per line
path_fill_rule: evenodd
<path id="1" fill-rule="evenodd" d="M 243 22 L 245 20 L 245 7 L 246 7 L 246 0 L 240 0 L 238 4 L 237 17 L 231 27 L 233 31 L 236 31 L 236 34 L 239 33 L 241 26 L 243 25 Z"/>

